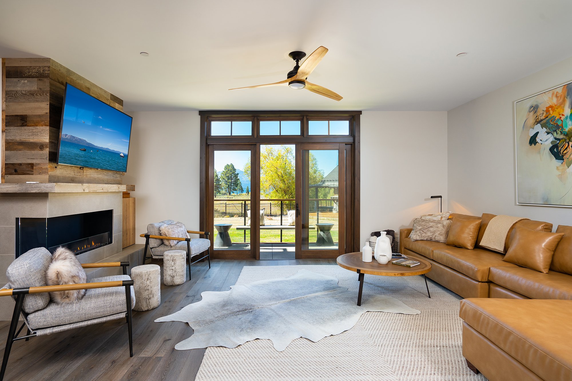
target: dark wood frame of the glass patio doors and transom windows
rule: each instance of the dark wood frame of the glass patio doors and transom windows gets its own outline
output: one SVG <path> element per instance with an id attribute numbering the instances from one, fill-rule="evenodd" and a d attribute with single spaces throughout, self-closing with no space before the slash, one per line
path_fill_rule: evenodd
<path id="1" fill-rule="evenodd" d="M 200 229 L 212 230 L 209 226 L 212 220 L 212 189 L 214 163 L 212 152 L 213 147 L 217 150 L 252 150 L 251 154 L 251 210 L 258 210 L 260 207 L 260 145 L 272 144 L 294 144 L 294 143 L 337 143 L 341 156 L 345 156 L 345 235 L 339 237 L 339 240 L 345 240 L 345 252 L 354 252 L 360 250 L 360 115 L 362 111 L 199 111 L 200 115 Z M 259 121 L 260 120 L 280 120 L 280 119 L 296 119 L 301 121 L 302 131 L 299 136 L 260 136 Z M 350 131 L 349 135 L 309 135 L 309 120 L 348 120 Z M 210 121 L 236 121 L 249 120 L 252 121 L 252 136 L 209 136 Z M 296 162 L 301 157 L 296 156 Z M 340 160 L 341 164 L 341 160 Z M 256 168 L 255 168 L 256 167 Z M 340 166 L 341 170 L 341 166 Z M 301 186 L 297 187 L 301 188 Z M 256 196 L 255 196 L 256 195 Z M 300 194 L 301 197 L 301 194 Z M 301 198 L 296 194 L 296 199 L 300 202 Z M 251 215 L 251 226 L 259 226 L 260 216 L 258 213 Z M 341 216 L 340 216 L 341 218 Z M 341 233 L 341 232 L 340 232 Z M 340 234 L 341 235 L 341 234 Z M 215 239 L 215 234 L 210 235 L 211 244 Z M 256 247 L 255 247 L 256 246 Z M 340 245 L 341 246 L 341 245 Z M 321 250 L 313 250 L 319 252 Z M 230 255 L 229 255 L 230 254 Z M 317 255 L 317 256 L 316 256 Z M 333 255 L 333 256 L 332 256 Z M 335 258 L 337 253 L 312 253 L 311 258 Z M 251 230 L 251 251 L 229 251 L 229 250 L 213 250 L 213 258 L 219 259 L 259 259 L 259 230 Z M 304 257 L 303 257 L 304 258 Z"/>

